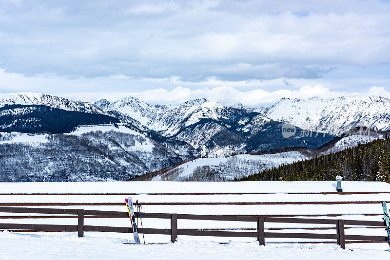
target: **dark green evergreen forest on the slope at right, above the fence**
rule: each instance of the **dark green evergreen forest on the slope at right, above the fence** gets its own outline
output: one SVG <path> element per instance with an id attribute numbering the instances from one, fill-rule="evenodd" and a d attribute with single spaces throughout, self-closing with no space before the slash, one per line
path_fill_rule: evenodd
<path id="1" fill-rule="evenodd" d="M 234 181 L 383 181 L 390 183 L 390 138 L 275 167 Z"/>

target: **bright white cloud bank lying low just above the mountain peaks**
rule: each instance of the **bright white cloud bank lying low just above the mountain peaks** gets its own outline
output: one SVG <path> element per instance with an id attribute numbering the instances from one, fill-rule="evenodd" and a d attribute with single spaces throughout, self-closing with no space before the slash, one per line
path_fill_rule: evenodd
<path id="1" fill-rule="evenodd" d="M 362 82 L 364 86 L 370 87 L 360 88 L 360 91 L 336 91 L 329 87 L 343 89 L 342 87 L 350 86 L 351 88 L 351 86 L 356 86 Z M 132 88 L 129 91 L 117 91 L 126 90 L 131 84 L 136 85 L 140 91 L 132 91 Z M 167 87 L 155 88 L 155 86 L 161 85 Z M 40 92 L 89 102 L 96 102 L 101 98 L 106 98 L 112 102 L 125 96 L 134 96 L 151 104 L 177 105 L 190 99 L 205 97 L 224 105 L 241 102 L 248 107 L 259 107 L 272 105 L 283 97 L 309 98 L 319 96 L 334 98 L 340 95 L 374 94 L 390 98 L 390 91 L 387 91 L 383 86 L 390 86 L 390 79 L 351 78 L 343 80 L 339 84 L 320 79 L 292 79 L 289 80 L 289 85 L 286 85 L 284 78 L 248 81 L 221 81 L 209 78 L 204 82 L 192 83 L 181 81 L 176 76 L 137 80 L 117 74 L 98 78 L 70 79 L 52 74 L 30 77 L 17 73 L 6 73 L 0 69 L 0 92 Z"/>

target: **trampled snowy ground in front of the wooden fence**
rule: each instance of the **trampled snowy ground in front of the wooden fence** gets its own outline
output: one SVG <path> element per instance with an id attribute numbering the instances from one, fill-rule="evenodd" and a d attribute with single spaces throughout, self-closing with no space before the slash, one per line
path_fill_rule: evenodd
<path id="1" fill-rule="evenodd" d="M 0 259 L 388 259 L 390 250 L 343 250 L 333 244 L 277 244 L 256 242 L 181 241 L 169 244 L 123 244 L 120 239 L 68 236 L 20 235 L 0 232 Z"/>

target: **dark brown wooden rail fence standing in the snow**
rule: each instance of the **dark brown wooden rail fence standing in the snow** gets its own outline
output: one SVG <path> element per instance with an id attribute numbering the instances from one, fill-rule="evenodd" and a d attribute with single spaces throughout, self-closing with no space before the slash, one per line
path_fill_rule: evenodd
<path id="1" fill-rule="evenodd" d="M 132 233 L 131 227 L 114 226 L 94 226 L 84 225 L 84 218 L 128 218 L 128 212 L 122 211 L 102 211 L 86 209 L 59 209 L 59 208 L 22 208 L 22 207 L 0 207 L 0 212 L 7 213 L 30 213 L 30 214 L 59 214 L 70 215 L 78 218 L 77 225 L 59 225 L 59 224 L 17 224 L 0 223 L 0 230 L 13 231 L 67 231 L 78 232 L 79 237 L 84 236 L 84 232 L 117 232 Z M 171 228 L 138 228 L 139 233 L 170 235 L 171 241 L 176 241 L 178 235 L 185 236 L 212 236 L 212 237 L 249 237 L 257 238 L 260 245 L 265 244 L 266 238 L 289 238 L 289 239 L 324 239 L 335 240 L 341 248 L 345 249 L 347 242 L 384 242 L 386 236 L 367 236 L 367 235 L 346 235 L 345 225 L 358 225 L 370 227 L 385 227 L 385 222 L 381 221 L 359 221 L 359 220 L 337 220 L 337 219 L 309 219 L 309 218 L 279 218 L 265 216 L 242 216 L 242 215 L 193 215 L 193 214 L 169 214 L 169 213 L 136 213 L 136 217 L 142 218 L 170 219 Z M 2 216 L 2 218 L 42 218 L 41 216 Z M 60 216 L 46 216 L 47 218 L 59 218 Z M 68 217 L 68 216 L 67 216 Z M 256 222 L 256 232 L 250 231 L 214 231 L 214 230 L 194 230 L 177 229 L 177 220 L 207 220 L 207 221 L 238 221 L 238 222 Z M 336 227 L 336 234 L 324 233 L 286 233 L 286 232 L 265 232 L 264 223 L 306 223 L 306 224 L 330 224 Z M 320 229 L 320 228 L 319 228 Z M 385 232 L 385 230 L 384 230 Z"/>

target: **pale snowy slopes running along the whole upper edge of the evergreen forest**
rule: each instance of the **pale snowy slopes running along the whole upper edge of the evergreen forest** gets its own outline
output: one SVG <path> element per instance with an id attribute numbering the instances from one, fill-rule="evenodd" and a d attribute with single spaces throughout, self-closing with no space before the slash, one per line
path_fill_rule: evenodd
<path id="1" fill-rule="evenodd" d="M 175 167 L 161 176 L 154 178 L 155 181 L 226 181 L 241 178 L 246 175 L 262 172 L 272 167 L 291 164 L 299 160 L 310 159 L 319 154 L 337 152 L 360 144 L 365 144 L 376 139 L 383 139 L 384 135 L 378 132 L 357 131 L 356 134 L 343 138 L 337 137 L 327 147 L 318 150 L 299 149 L 275 154 L 249 155 L 238 154 L 226 157 L 228 152 L 217 157 L 199 158 L 183 165 Z M 339 140 L 339 141 L 337 141 Z M 326 149 L 326 150 L 324 150 Z"/>

